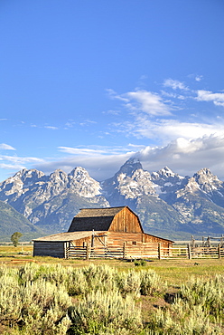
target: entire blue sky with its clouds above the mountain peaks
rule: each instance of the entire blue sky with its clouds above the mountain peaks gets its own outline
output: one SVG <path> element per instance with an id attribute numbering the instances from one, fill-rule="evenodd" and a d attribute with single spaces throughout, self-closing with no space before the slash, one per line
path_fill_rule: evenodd
<path id="1" fill-rule="evenodd" d="M 223 0 L 1 0 L 0 181 L 22 168 L 224 179 Z"/>

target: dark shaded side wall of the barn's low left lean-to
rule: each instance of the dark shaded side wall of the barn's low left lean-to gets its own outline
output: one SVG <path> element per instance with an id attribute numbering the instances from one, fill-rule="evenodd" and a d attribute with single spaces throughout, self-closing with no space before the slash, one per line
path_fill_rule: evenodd
<path id="1" fill-rule="evenodd" d="M 33 256 L 51 256 L 64 258 L 64 242 L 42 242 L 34 241 Z"/>

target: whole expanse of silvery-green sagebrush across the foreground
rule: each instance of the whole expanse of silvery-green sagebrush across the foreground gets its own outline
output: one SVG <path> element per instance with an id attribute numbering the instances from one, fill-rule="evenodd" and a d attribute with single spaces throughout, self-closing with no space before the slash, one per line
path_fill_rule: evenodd
<path id="1" fill-rule="evenodd" d="M 4 334 L 221 334 L 224 278 L 191 280 L 172 303 L 145 324 L 141 296 L 163 298 L 168 285 L 154 270 L 118 271 L 27 263 L 0 267 L 0 322 Z M 153 298 L 152 298 L 153 299 Z"/>

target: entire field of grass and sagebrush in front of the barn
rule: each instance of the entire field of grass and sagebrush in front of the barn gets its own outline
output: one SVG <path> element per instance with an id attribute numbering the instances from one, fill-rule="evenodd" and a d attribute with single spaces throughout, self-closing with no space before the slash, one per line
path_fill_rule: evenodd
<path id="1" fill-rule="evenodd" d="M 0 246 L 0 333 L 222 334 L 224 259 L 62 260 Z"/>

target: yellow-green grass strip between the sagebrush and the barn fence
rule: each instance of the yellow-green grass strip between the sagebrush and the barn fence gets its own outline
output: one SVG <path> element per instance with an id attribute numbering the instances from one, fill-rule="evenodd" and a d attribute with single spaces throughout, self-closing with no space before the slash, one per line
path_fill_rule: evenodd
<path id="1" fill-rule="evenodd" d="M 35 263 L 61 263 L 65 266 L 81 267 L 83 265 L 88 265 L 90 263 L 106 264 L 113 266 L 120 270 L 128 270 L 135 268 L 136 271 L 140 269 L 152 269 L 158 273 L 163 281 L 168 282 L 168 284 L 173 286 L 180 286 L 182 282 L 188 281 L 191 276 L 197 277 L 210 277 L 214 273 L 222 274 L 224 273 L 224 258 L 221 259 L 201 259 L 201 260 L 157 260 L 153 259 L 151 262 L 146 262 L 144 266 L 135 266 L 134 262 L 125 262 L 116 259 L 96 259 L 96 260 L 66 260 L 54 257 L 33 257 L 33 245 L 18 245 L 14 247 L 13 245 L 0 245 L 0 263 L 5 263 L 7 265 L 15 263 L 23 263 L 26 261 L 33 261 Z"/>

